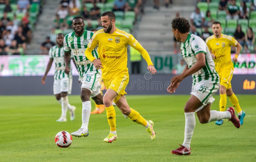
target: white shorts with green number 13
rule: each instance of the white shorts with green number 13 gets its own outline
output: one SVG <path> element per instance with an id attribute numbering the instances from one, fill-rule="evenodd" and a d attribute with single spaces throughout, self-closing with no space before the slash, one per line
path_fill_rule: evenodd
<path id="1" fill-rule="evenodd" d="M 101 70 L 98 70 L 98 73 L 96 71 L 90 71 L 84 74 L 84 77 L 82 78 L 81 89 L 89 89 L 92 93 L 91 97 L 95 97 L 100 94 L 101 84 L 99 79 L 101 78 L 101 74 Z"/>

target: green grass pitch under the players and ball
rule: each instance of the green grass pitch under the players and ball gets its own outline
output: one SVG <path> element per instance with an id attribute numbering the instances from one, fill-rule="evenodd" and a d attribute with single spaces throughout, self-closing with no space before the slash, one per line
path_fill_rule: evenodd
<path id="1" fill-rule="evenodd" d="M 183 107 L 189 95 L 127 95 L 127 101 L 146 120 L 155 122 L 156 139 L 151 141 L 145 127 L 125 119 L 116 107 L 117 140 L 103 142 L 109 133 L 106 111 L 91 115 L 90 135 L 73 137 L 68 148 L 59 148 L 55 135 L 69 133 L 81 126 L 80 96 L 70 95 L 76 106 L 76 119 L 58 123 L 61 106 L 54 95 L 0 96 L 0 161 L 255 161 L 256 159 L 256 95 L 237 95 L 246 112 L 244 124 L 235 128 L 227 119 L 217 126 L 201 124 L 196 128 L 189 156 L 172 155 L 184 139 Z M 212 109 L 219 109 L 219 95 Z M 230 106 L 228 101 L 227 107 Z M 94 104 L 92 104 L 94 109 Z"/>

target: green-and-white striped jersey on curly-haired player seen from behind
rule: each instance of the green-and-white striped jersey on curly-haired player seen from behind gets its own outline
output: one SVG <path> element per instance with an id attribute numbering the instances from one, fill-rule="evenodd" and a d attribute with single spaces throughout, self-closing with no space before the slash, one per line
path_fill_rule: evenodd
<path id="1" fill-rule="evenodd" d="M 206 66 L 192 74 L 193 85 L 202 80 L 219 82 L 219 74 L 215 70 L 215 64 L 211 53 L 203 39 L 189 33 L 185 42 L 181 42 L 180 51 L 182 57 L 188 65 L 188 68 L 191 68 L 193 65 L 195 65 L 197 61 L 197 53 L 205 53 Z"/>

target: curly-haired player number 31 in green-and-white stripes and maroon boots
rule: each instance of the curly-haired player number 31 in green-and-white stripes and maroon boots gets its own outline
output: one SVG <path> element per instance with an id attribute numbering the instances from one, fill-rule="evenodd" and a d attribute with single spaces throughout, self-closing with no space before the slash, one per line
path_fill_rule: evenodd
<path id="1" fill-rule="evenodd" d="M 185 18 L 174 18 L 172 20 L 172 32 L 178 41 L 181 41 L 180 51 L 187 66 L 180 75 L 171 79 L 171 85 L 167 91 L 171 94 L 176 91 L 180 82 L 192 74 L 191 97 L 184 107 L 185 111 L 185 133 L 184 142 L 181 147 L 172 150 L 176 155 L 189 155 L 191 153 L 190 142 L 196 126 L 195 112 L 200 123 L 209 123 L 220 119 L 229 119 L 236 128 L 240 127 L 235 111 L 229 107 L 227 111 L 210 111 L 214 101 L 214 95 L 220 86 L 220 78 L 215 71 L 211 53 L 200 37 L 190 34 L 190 25 Z"/>

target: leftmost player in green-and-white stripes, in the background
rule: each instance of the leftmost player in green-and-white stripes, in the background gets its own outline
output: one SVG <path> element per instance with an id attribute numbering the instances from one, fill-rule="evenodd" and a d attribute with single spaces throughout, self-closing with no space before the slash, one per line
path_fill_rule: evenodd
<path id="1" fill-rule="evenodd" d="M 46 75 L 51 69 L 52 62 L 55 63 L 55 73 L 53 82 L 53 94 L 56 100 L 61 104 L 61 116 L 56 122 L 66 122 L 67 121 L 67 110 L 70 113 L 70 120 L 75 119 L 75 106 L 71 106 L 68 103 L 68 94 L 71 94 L 72 89 L 72 74 L 65 74 L 65 64 L 64 64 L 64 50 L 63 50 L 63 39 L 64 35 L 59 33 L 56 35 L 57 45 L 50 48 L 49 57 L 50 60 L 47 64 L 45 74 L 42 77 L 42 83 L 45 84 Z M 71 57 L 73 58 L 73 57 Z M 73 60 L 74 61 L 74 60 Z"/>

